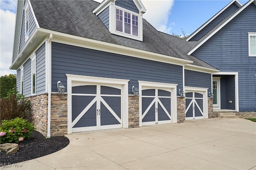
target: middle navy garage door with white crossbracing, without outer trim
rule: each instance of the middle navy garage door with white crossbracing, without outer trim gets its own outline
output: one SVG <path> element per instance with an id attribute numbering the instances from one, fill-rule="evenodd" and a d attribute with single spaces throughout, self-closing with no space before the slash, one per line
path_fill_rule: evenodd
<path id="1" fill-rule="evenodd" d="M 171 90 L 142 89 L 142 126 L 171 121 Z"/>

